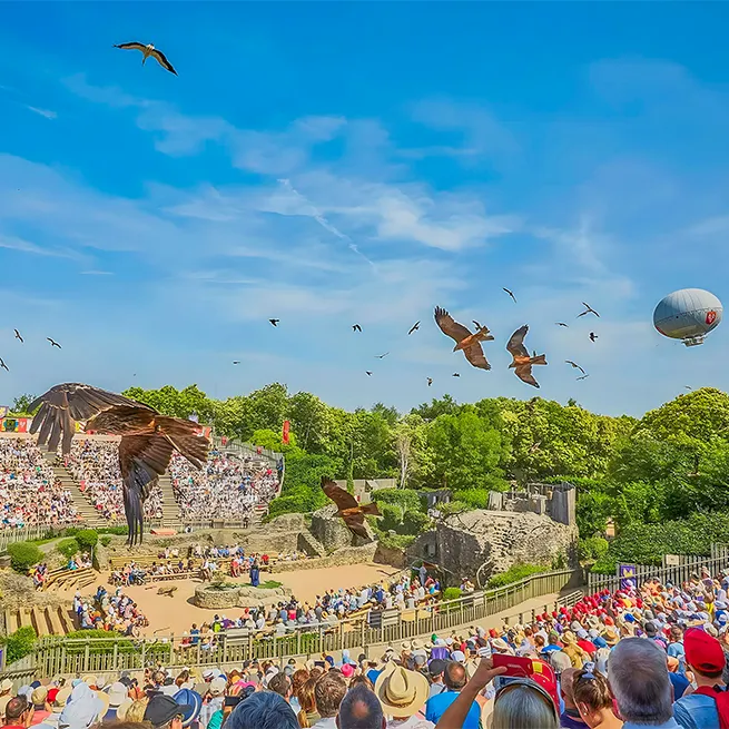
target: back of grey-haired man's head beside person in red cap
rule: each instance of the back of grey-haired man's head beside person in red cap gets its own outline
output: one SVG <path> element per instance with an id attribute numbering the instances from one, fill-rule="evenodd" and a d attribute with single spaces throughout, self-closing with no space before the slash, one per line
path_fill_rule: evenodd
<path id="1" fill-rule="evenodd" d="M 625 722 L 661 725 L 673 716 L 666 653 L 652 640 L 621 640 L 608 659 L 608 683 Z"/>

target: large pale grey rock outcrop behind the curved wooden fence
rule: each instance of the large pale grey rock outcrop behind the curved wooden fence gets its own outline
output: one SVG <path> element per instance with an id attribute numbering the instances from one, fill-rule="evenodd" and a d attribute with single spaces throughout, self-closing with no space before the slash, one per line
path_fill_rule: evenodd
<path id="1" fill-rule="evenodd" d="M 418 538 L 408 552 L 444 568 L 450 583 L 476 574 L 483 583 L 518 563 L 549 565 L 558 555 L 570 559 L 577 538 L 577 526 L 546 515 L 475 510 L 440 522 L 434 534 Z"/>

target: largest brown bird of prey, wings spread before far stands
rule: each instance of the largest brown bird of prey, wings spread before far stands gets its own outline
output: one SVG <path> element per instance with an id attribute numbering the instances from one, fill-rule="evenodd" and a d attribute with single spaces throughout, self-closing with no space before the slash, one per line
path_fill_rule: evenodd
<path id="1" fill-rule="evenodd" d="M 142 504 L 165 473 L 173 452 L 184 455 L 201 469 L 210 446 L 193 421 L 160 415 L 156 410 L 124 395 L 80 383 L 51 387 L 32 402 L 28 410 L 40 410 L 33 417 L 30 432 L 38 432 L 38 445 L 68 455 L 76 423 L 85 430 L 121 435 L 119 469 L 124 487 L 124 510 L 129 524 L 128 544 L 141 543 L 144 528 Z"/>

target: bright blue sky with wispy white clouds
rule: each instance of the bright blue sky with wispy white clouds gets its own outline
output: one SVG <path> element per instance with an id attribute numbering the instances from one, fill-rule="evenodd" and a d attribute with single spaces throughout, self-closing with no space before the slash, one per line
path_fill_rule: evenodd
<path id="1" fill-rule="evenodd" d="M 504 349 L 524 323 L 544 397 L 641 414 L 729 388 L 729 324 L 694 348 L 652 328 L 677 288 L 729 299 L 728 21 L 725 3 L 6 4 L 0 403 L 66 381 L 531 397 Z M 129 40 L 179 77 L 112 48 Z M 492 329 L 491 372 L 451 352 L 436 304 Z"/>

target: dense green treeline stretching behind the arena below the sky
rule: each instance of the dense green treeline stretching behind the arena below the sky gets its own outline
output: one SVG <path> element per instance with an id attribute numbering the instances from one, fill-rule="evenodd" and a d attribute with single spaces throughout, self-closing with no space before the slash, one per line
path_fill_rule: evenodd
<path id="1" fill-rule="evenodd" d="M 539 397 L 459 404 L 445 395 L 406 414 L 382 403 L 347 412 L 309 393 L 289 394 L 279 383 L 225 401 L 196 385 L 125 394 L 165 414 L 196 414 L 219 435 L 283 451 L 286 480 L 274 514 L 324 505 L 322 475 L 394 477 L 405 489 L 447 486 L 455 508 L 483 506 L 489 490 L 509 483 L 567 479 L 578 485 L 583 555 L 602 556 L 611 569 L 629 554 L 660 561 L 667 549 L 657 538 L 661 530 L 651 526 L 657 524 L 706 551 L 721 536 L 708 524 L 723 523 L 720 514 L 729 513 L 729 396 L 712 388 L 681 395 L 641 420 Z M 285 420 L 287 446 L 280 442 Z M 607 543 L 599 538 L 609 520 L 618 538 L 603 555 Z"/>

